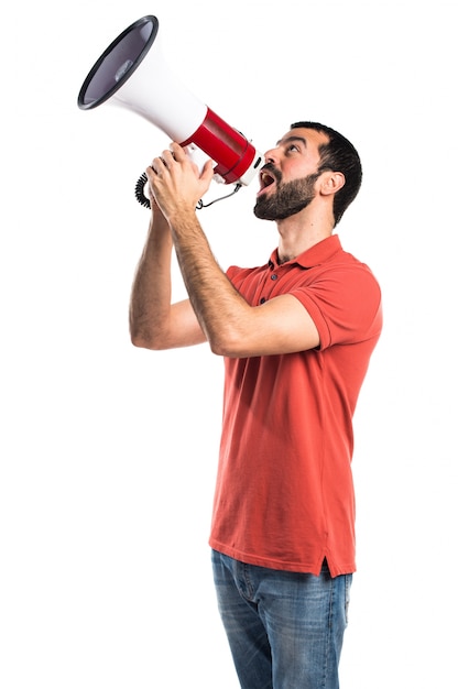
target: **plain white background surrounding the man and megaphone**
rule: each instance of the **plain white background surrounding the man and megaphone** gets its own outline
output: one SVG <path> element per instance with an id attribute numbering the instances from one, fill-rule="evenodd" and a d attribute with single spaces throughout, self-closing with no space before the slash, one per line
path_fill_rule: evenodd
<path id="1" fill-rule="evenodd" d="M 133 187 L 168 139 L 76 105 L 144 14 L 171 69 L 261 151 L 315 119 L 361 154 L 338 233 L 380 280 L 385 327 L 355 418 L 341 686 L 454 687 L 457 50 L 444 0 L 3 11 L 0 686 L 238 686 L 207 545 L 222 362 L 207 347 L 141 351 L 128 331 L 149 218 Z M 257 188 L 200 211 L 223 267 L 276 244 L 252 215 Z"/>

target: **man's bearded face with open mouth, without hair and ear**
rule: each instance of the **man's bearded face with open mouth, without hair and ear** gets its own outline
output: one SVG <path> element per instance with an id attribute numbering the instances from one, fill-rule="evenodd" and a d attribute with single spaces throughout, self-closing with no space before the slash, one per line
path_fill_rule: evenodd
<path id="1" fill-rule="evenodd" d="M 318 178 L 318 146 L 326 134 L 312 129 L 293 129 L 265 153 L 260 174 L 254 215 L 263 220 L 284 220 L 306 208 L 315 198 Z"/>

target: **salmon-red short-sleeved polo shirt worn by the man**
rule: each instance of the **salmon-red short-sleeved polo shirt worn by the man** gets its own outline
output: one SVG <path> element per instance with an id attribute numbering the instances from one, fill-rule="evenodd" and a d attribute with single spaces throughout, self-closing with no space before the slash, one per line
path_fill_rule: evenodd
<path id="1" fill-rule="evenodd" d="M 331 236 L 287 263 L 231 266 L 252 305 L 294 295 L 317 349 L 225 359 L 223 419 L 209 544 L 243 562 L 332 577 L 355 561 L 352 416 L 382 328 L 367 265 Z"/>

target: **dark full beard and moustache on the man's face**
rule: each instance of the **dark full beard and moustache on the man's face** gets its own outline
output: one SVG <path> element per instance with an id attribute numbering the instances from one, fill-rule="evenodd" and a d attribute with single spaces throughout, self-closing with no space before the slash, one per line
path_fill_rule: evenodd
<path id="1" fill-rule="evenodd" d="M 261 220 L 284 220 L 299 212 L 313 201 L 315 198 L 315 182 L 318 174 L 307 175 L 302 179 L 293 179 L 282 184 L 282 174 L 280 171 L 264 166 L 264 169 L 275 177 L 276 190 L 274 194 L 265 194 L 258 198 L 253 208 L 257 218 Z"/>

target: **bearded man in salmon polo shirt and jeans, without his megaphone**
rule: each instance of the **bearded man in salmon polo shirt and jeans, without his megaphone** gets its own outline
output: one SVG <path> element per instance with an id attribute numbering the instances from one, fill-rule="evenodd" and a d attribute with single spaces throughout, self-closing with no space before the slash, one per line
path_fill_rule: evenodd
<path id="1" fill-rule="evenodd" d="M 279 247 L 225 274 L 195 208 L 212 176 L 183 149 L 146 171 L 153 214 L 131 337 L 208 341 L 225 357 L 210 534 L 218 605 L 242 689 L 337 689 L 355 565 L 352 415 L 382 327 L 371 271 L 332 234 L 361 184 L 351 143 L 292 124 L 265 153 L 254 214 Z M 175 248 L 188 300 L 171 305 Z"/>

